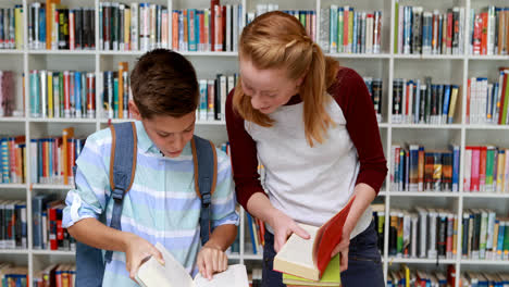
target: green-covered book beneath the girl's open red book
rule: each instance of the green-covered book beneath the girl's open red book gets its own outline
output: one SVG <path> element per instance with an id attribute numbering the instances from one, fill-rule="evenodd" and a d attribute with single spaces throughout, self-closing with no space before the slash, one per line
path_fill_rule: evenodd
<path id="1" fill-rule="evenodd" d="M 323 272 L 322 278 L 318 282 L 305 279 L 298 276 L 283 273 L 283 283 L 286 285 L 301 286 L 342 286 L 342 277 L 339 274 L 339 254 L 335 255 L 327 267 Z"/>

